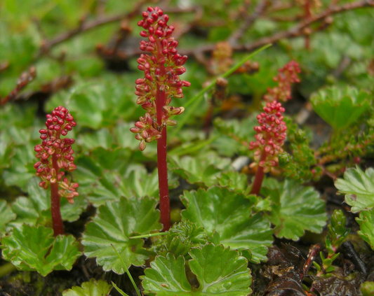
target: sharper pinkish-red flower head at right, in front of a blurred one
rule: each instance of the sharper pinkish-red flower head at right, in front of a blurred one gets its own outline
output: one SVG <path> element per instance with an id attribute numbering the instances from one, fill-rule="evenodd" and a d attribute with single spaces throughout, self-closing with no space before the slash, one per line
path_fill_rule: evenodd
<path id="1" fill-rule="evenodd" d="M 283 151 L 281 146 L 286 139 L 287 127 L 283 121 L 284 108 L 281 103 L 277 101 L 267 103 L 264 111 L 257 116 L 260 124 L 254 127 L 257 141 L 252 141 L 249 149 L 255 150 L 255 163 L 267 172 L 271 167 L 278 166 L 277 155 Z M 263 157 L 264 155 L 266 157 Z"/>

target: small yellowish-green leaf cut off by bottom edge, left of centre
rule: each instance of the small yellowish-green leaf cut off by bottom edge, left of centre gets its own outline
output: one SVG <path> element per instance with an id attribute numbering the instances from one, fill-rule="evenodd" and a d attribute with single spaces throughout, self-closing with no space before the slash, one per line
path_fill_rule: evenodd
<path id="1" fill-rule="evenodd" d="M 82 283 L 81 287 L 74 286 L 62 292 L 62 296 L 107 296 L 112 290 L 112 285 L 106 281 L 91 279 Z"/>

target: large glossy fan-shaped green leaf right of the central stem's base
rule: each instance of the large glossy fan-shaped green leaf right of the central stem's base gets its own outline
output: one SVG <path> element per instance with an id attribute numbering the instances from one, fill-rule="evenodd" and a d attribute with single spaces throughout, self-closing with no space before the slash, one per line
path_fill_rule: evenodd
<path id="1" fill-rule="evenodd" d="M 240 251 L 248 249 L 252 262 L 266 261 L 267 246 L 272 244 L 269 221 L 260 213 L 253 214 L 255 197 L 247 198 L 227 188 L 185 192 L 181 197 L 186 210 L 182 219 L 205 229 L 215 244 L 223 244 Z"/>

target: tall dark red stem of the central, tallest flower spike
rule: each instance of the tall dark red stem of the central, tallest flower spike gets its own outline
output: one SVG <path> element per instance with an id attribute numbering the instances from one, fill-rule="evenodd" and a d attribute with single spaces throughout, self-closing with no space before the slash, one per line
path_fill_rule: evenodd
<path id="1" fill-rule="evenodd" d="M 156 41 L 158 48 L 158 57 L 162 57 L 162 47 L 159 41 Z M 165 75 L 165 66 L 159 64 L 161 76 Z M 161 223 L 163 225 L 163 232 L 170 228 L 170 199 L 169 199 L 169 186 L 168 186 L 168 166 L 166 163 L 166 127 L 162 127 L 163 109 L 166 101 L 166 92 L 161 90 L 161 84 L 156 83 L 156 116 L 159 127 L 162 128 L 161 139 L 157 140 L 157 169 L 159 171 L 159 196 L 160 196 L 160 212 Z"/>

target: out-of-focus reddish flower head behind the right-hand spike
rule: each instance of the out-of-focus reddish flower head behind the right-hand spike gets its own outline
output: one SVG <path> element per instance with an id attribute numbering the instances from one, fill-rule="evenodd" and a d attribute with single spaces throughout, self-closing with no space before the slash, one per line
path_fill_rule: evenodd
<path id="1" fill-rule="evenodd" d="M 287 101 L 291 99 L 291 91 L 293 83 L 300 83 L 298 73 L 300 73 L 300 66 L 295 61 L 290 61 L 286 66 L 279 69 L 279 73 L 273 78 L 278 82 L 278 86 L 267 89 L 265 94 L 265 101 Z"/>

